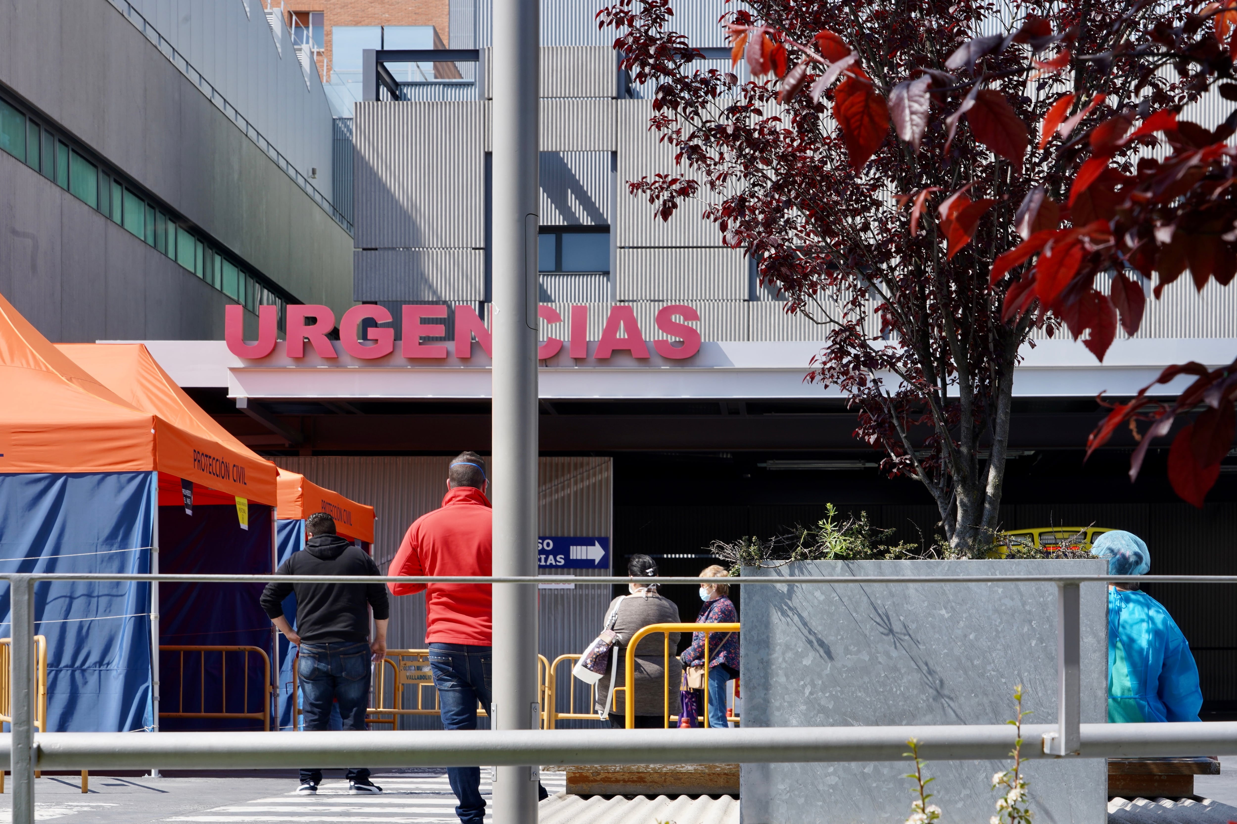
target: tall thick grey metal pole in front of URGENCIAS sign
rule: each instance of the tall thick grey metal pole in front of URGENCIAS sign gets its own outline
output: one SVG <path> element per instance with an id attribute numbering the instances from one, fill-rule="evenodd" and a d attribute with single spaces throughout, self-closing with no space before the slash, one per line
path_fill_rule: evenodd
<path id="1" fill-rule="evenodd" d="M 537 573 L 538 40 L 538 0 L 494 4 L 491 477 L 499 576 Z M 537 729 L 538 700 L 537 588 L 495 584 L 491 726 Z M 534 767 L 499 766 L 494 820 L 534 824 L 538 777 Z"/>

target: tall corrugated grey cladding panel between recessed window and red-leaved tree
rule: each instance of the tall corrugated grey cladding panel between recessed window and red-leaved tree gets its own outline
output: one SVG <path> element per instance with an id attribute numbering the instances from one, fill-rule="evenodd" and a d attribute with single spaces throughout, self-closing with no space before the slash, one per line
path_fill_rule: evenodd
<path id="1" fill-rule="evenodd" d="M 653 114 L 648 100 L 616 100 L 618 130 L 617 214 L 615 227 L 617 245 L 622 246 L 719 246 L 721 232 L 701 217 L 700 201 L 679 206 L 668 221 L 643 195 L 631 195 L 627 183 L 654 174 L 689 178 L 685 167 L 674 163 L 674 148 L 658 142 L 658 133 L 648 131 Z"/>

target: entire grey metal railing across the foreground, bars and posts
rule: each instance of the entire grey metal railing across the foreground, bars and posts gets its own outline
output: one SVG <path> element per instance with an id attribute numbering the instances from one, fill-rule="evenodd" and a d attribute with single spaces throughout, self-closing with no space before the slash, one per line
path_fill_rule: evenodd
<path id="1" fill-rule="evenodd" d="M 607 763 L 774 763 L 826 761 L 902 761 L 905 741 L 915 738 L 927 760 L 999 760 L 1017 731 L 1006 724 L 923 726 L 747 728 L 725 730 L 449 730 L 304 733 L 40 733 L 35 735 L 35 584 L 45 581 L 132 581 L 260 583 L 538 583 L 622 584 L 627 577 L 573 576 L 228 576 L 6 573 L 12 636 L 10 649 L 12 733 L 0 735 L 0 760 L 14 773 L 14 824 L 33 824 L 35 768 L 205 770 L 299 767 L 312 755 L 323 767 L 526 766 Z M 716 578 L 664 577 L 662 584 L 706 584 Z M 1200 751 L 1237 755 L 1237 721 L 1081 724 L 1080 612 L 1082 583 L 1237 583 L 1237 576 L 761 576 L 738 584 L 940 584 L 1051 583 L 1058 603 L 1058 723 L 1024 725 L 1025 759 L 1191 756 Z M 719 625 L 714 625 L 719 626 Z"/>

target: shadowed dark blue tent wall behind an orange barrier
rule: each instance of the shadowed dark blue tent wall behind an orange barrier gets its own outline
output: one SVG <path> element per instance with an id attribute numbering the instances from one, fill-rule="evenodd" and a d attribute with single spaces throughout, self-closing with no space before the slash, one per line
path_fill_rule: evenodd
<path id="1" fill-rule="evenodd" d="M 160 572 L 262 574 L 271 572 L 272 508 L 250 503 L 249 529 L 240 529 L 236 508 L 160 507 Z M 167 583 L 160 586 L 160 645 L 256 646 L 271 654 L 271 621 L 259 603 L 263 584 Z M 261 712 L 265 692 L 259 656 L 249 654 L 247 691 L 241 654 L 226 654 L 226 712 Z M 205 666 L 205 692 L 203 672 Z M 183 666 L 183 668 L 182 668 Z M 275 660 L 271 666 L 276 667 Z M 160 655 L 161 713 L 221 712 L 224 657 L 219 652 Z M 246 707 L 247 696 L 247 707 Z M 272 729 L 275 726 L 272 719 Z M 251 719 L 163 718 L 162 730 L 261 729 Z"/>

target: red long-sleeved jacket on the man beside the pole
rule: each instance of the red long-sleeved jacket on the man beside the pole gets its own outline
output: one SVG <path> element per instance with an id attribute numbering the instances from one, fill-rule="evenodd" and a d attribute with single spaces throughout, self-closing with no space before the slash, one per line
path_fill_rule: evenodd
<path id="1" fill-rule="evenodd" d="M 475 487 L 455 487 L 440 509 L 412 523 L 390 576 L 487 576 L 494 557 L 494 510 Z M 490 646 L 490 584 L 391 583 L 396 595 L 426 592 L 426 641 Z"/>

